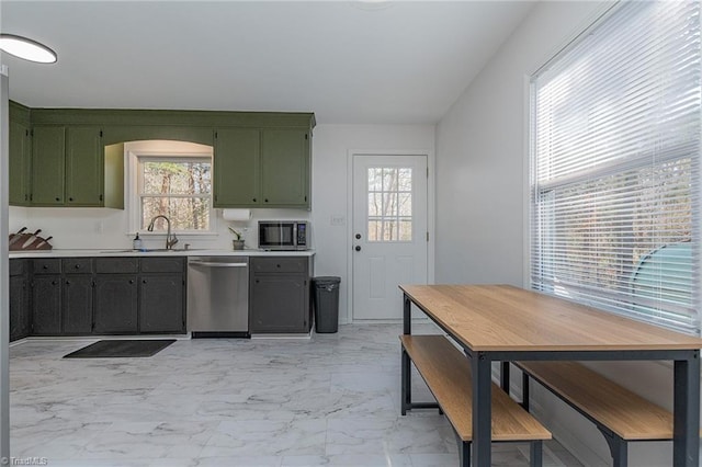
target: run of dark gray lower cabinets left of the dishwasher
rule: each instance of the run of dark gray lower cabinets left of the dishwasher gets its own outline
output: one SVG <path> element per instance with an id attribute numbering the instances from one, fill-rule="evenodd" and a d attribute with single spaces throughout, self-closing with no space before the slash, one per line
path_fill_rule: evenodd
<path id="1" fill-rule="evenodd" d="M 10 261 L 10 340 L 185 332 L 183 257 Z"/>

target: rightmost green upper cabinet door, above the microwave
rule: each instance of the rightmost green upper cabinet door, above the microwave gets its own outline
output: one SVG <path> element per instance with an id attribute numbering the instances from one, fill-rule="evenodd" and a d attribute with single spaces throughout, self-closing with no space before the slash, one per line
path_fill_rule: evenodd
<path id="1" fill-rule="evenodd" d="M 308 132 L 263 129 L 261 180 L 264 206 L 309 208 Z"/>

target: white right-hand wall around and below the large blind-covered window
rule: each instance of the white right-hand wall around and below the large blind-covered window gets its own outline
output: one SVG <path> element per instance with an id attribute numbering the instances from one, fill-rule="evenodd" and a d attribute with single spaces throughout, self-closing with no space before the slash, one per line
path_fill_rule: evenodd
<path id="1" fill-rule="evenodd" d="M 528 76 L 590 25 L 607 4 L 539 2 L 437 126 L 437 282 L 528 277 Z M 597 364 L 642 396 L 671 407 L 672 369 L 660 363 Z M 543 390 L 535 411 L 590 466 L 611 465 L 593 424 Z M 633 443 L 630 465 L 670 465 L 671 443 Z"/>

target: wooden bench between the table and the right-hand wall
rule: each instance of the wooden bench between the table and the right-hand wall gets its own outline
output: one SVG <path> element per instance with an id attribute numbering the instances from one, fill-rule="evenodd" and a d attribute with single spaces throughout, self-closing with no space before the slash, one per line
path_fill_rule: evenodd
<path id="1" fill-rule="evenodd" d="M 593 422 L 614 467 L 627 465 L 630 441 L 672 440 L 672 413 L 576 362 L 514 362 L 522 371 L 522 406 L 533 378 Z"/>

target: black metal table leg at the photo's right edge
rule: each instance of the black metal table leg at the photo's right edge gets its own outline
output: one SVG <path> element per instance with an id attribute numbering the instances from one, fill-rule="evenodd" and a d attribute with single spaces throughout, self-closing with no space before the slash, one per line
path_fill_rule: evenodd
<path id="1" fill-rule="evenodd" d="M 700 352 L 675 362 L 672 465 L 700 463 Z"/>

